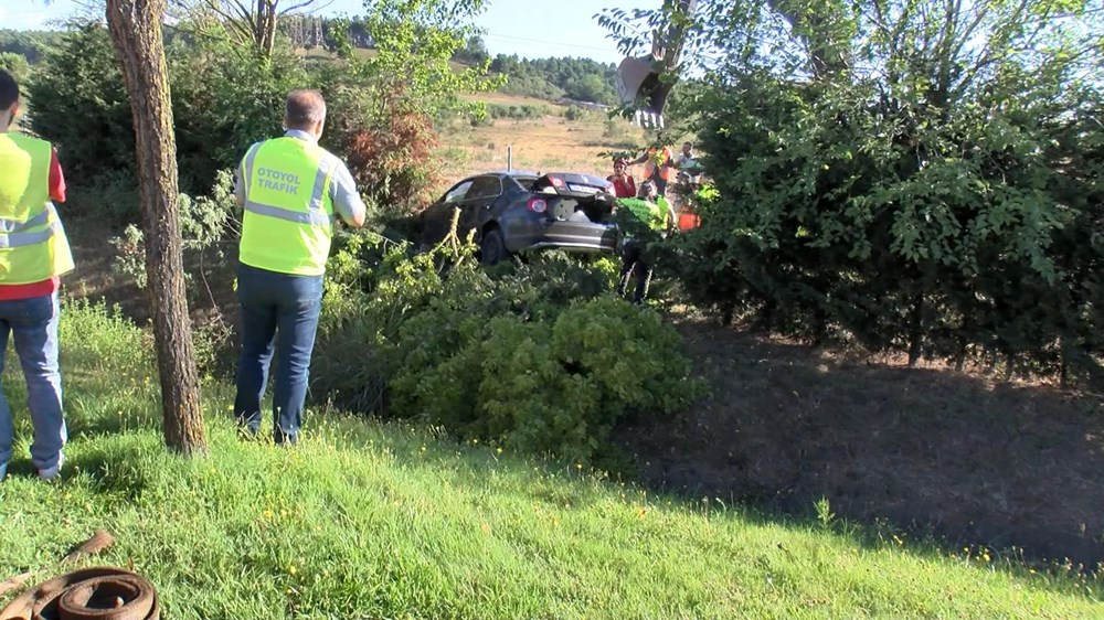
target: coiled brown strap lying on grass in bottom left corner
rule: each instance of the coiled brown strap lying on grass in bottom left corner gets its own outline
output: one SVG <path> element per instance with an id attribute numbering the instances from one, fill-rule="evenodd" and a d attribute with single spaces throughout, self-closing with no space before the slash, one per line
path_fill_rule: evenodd
<path id="1" fill-rule="evenodd" d="M 121 568 L 66 573 L 23 592 L 0 620 L 159 620 L 157 589 Z"/>

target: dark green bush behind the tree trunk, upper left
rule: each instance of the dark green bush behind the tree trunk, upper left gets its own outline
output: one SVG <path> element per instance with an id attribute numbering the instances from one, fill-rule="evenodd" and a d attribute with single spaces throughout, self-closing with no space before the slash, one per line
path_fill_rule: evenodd
<path id="1" fill-rule="evenodd" d="M 306 73 L 287 50 L 257 62 L 217 36 L 178 38 L 167 50 L 181 191 L 204 194 L 219 170 L 280 131 L 284 97 Z M 125 225 L 138 221 L 130 103 L 106 28 L 62 38 L 35 67 L 31 129 L 53 141 L 74 190 L 71 209 Z"/>

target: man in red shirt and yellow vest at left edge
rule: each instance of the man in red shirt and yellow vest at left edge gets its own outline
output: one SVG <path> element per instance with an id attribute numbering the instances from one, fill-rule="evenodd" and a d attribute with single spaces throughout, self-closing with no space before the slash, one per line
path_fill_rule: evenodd
<path id="1" fill-rule="evenodd" d="M 8 339 L 26 383 L 34 440 L 31 462 L 53 480 L 65 458 L 62 376 L 57 365 L 60 276 L 73 254 L 51 200 L 65 202 L 65 179 L 50 142 L 11 131 L 19 115 L 19 84 L 0 70 L 0 370 Z M 0 480 L 12 457 L 11 406 L 0 391 Z"/>

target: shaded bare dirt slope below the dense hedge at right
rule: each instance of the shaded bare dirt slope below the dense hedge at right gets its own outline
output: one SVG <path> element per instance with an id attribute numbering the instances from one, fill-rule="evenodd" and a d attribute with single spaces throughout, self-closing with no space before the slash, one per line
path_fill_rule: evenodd
<path id="1" fill-rule="evenodd" d="M 687 321 L 712 395 L 618 430 L 652 487 L 1104 562 L 1104 407 L 1041 385 L 853 361 Z"/>

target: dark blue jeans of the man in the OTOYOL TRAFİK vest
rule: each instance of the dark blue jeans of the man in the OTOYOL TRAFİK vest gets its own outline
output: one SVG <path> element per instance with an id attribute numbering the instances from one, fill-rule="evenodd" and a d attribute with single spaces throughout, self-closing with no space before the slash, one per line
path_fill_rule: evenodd
<path id="1" fill-rule="evenodd" d="M 256 435 L 261 429 L 261 399 L 268 383 L 275 342 L 273 438 L 277 443 L 295 443 L 322 307 L 322 276 L 291 276 L 241 265 L 237 301 L 242 355 L 237 363 L 234 416 L 250 434 Z"/>

